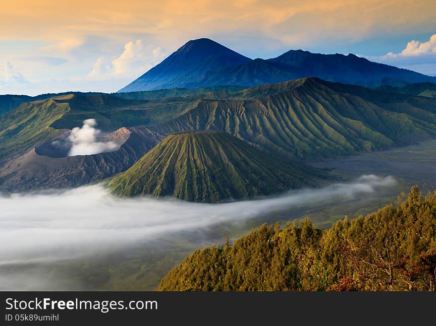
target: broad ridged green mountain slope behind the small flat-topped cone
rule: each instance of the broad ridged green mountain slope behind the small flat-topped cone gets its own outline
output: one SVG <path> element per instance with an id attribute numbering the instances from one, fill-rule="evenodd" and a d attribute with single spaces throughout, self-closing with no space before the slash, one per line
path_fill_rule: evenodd
<path id="1" fill-rule="evenodd" d="M 198 101 L 152 129 L 163 135 L 221 130 L 288 157 L 343 155 L 436 136 L 436 100 L 431 98 L 318 78 L 257 86 L 234 97 L 244 95 L 248 98 Z"/>

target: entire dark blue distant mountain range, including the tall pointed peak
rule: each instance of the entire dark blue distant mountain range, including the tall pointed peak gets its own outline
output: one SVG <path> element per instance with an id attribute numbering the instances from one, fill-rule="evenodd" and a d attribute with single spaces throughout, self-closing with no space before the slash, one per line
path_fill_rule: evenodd
<path id="1" fill-rule="evenodd" d="M 191 40 L 119 92 L 217 85 L 256 86 L 308 76 L 365 87 L 436 83 L 436 77 L 371 62 L 353 54 L 291 50 L 268 60 L 249 59 L 210 39 Z"/>

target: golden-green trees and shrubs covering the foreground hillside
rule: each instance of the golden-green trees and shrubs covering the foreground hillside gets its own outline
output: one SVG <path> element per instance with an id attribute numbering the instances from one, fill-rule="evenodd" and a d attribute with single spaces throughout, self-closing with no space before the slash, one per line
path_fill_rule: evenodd
<path id="1" fill-rule="evenodd" d="M 436 192 L 418 187 L 366 217 L 329 230 L 309 219 L 262 225 L 234 242 L 198 250 L 160 291 L 435 291 Z"/>

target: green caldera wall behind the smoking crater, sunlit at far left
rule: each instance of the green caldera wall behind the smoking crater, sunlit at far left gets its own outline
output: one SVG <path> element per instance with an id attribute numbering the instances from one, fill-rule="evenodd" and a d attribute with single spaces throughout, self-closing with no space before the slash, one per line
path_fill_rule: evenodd
<path id="1" fill-rule="evenodd" d="M 165 122 L 177 117 L 196 99 L 128 100 L 110 95 L 65 95 L 23 103 L 0 119 L 0 160 L 20 155 L 47 141 L 59 130 L 82 126 L 85 119 L 97 120 L 99 129 L 113 131 Z"/>

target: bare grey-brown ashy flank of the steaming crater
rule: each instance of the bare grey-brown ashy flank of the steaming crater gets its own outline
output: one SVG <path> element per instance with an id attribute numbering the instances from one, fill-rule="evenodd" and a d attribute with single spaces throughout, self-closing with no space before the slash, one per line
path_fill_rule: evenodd
<path id="1" fill-rule="evenodd" d="M 161 139 L 145 127 L 121 128 L 106 136 L 112 152 L 58 157 L 48 141 L 0 167 L 0 191 L 70 188 L 99 181 L 131 167 Z"/>

